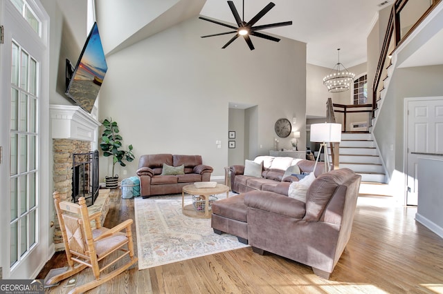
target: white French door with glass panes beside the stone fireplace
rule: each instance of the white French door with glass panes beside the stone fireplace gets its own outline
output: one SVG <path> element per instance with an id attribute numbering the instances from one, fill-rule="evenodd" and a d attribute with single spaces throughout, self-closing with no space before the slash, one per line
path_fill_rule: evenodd
<path id="1" fill-rule="evenodd" d="M 44 143 L 48 130 L 42 118 L 42 106 L 48 104 L 44 86 L 48 79 L 42 75 L 47 48 L 40 35 L 46 26 L 37 23 L 39 30 L 35 31 L 40 10 L 34 2 L 27 2 L 0 0 L 0 25 L 4 27 L 0 45 L 3 279 L 32 279 L 48 258 L 49 195 L 44 195 L 49 194 L 48 164 L 44 163 L 48 153 L 43 147 L 48 145 Z"/>

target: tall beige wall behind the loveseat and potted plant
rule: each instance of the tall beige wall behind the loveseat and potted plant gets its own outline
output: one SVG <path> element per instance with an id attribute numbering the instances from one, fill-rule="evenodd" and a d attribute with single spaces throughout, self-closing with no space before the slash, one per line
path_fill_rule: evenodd
<path id="1" fill-rule="evenodd" d="M 245 156 L 272 148 L 280 117 L 291 120 L 296 113 L 304 124 L 305 43 L 253 37 L 253 51 L 242 39 L 222 50 L 229 37 L 200 38 L 210 33 L 208 23 L 190 19 L 107 57 L 99 120 L 118 121 L 123 144 L 134 146 L 137 159 L 125 168 L 128 177 L 140 155 L 155 153 L 202 155 L 213 176 L 223 176 L 229 101 L 257 105 L 257 135 Z M 100 157 L 100 178 L 110 169 Z"/>

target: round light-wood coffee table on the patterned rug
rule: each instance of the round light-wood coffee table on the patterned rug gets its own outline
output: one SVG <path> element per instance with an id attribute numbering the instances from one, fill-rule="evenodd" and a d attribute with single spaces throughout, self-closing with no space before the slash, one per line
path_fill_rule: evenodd
<path id="1" fill-rule="evenodd" d="M 185 193 L 190 195 L 199 195 L 205 200 L 205 211 L 199 212 L 194 208 L 193 204 L 185 206 Z M 217 184 L 214 188 L 197 188 L 194 184 L 187 185 L 181 190 L 181 212 L 188 217 L 197 217 L 201 219 L 209 218 L 211 210 L 209 210 L 209 197 L 210 195 L 217 195 L 226 193 L 226 198 L 229 197 L 229 187 L 222 184 Z"/>

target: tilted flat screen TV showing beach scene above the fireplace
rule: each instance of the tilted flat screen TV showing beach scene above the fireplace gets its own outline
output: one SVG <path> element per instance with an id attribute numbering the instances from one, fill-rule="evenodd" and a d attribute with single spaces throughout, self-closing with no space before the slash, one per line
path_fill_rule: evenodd
<path id="1" fill-rule="evenodd" d="M 75 68 L 66 59 L 66 96 L 91 113 L 107 69 L 97 23 L 94 23 Z"/>

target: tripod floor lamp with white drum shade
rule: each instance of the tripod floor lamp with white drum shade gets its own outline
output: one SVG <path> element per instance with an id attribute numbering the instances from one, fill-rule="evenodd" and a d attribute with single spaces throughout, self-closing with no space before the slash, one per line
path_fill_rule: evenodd
<path id="1" fill-rule="evenodd" d="M 326 143 L 341 141 L 341 124 L 311 124 L 311 142 L 320 142 L 320 150 L 314 165 L 314 172 L 317 167 L 318 159 L 320 158 L 321 149 L 325 149 L 325 173 L 331 170 L 329 164 L 329 155 L 327 155 Z"/>

